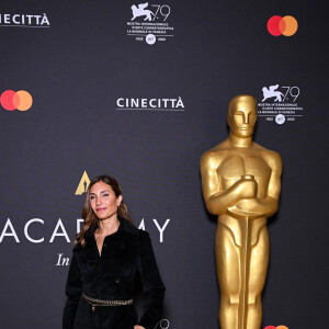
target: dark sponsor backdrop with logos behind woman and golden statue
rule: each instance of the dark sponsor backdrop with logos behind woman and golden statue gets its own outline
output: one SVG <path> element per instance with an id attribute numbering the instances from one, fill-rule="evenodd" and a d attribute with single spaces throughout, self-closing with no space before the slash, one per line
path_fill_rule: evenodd
<path id="1" fill-rule="evenodd" d="M 198 162 L 240 93 L 284 166 L 262 328 L 328 326 L 325 3 L 2 0 L 0 327 L 60 328 L 84 189 L 109 173 L 152 239 L 158 328 L 218 329 Z"/>

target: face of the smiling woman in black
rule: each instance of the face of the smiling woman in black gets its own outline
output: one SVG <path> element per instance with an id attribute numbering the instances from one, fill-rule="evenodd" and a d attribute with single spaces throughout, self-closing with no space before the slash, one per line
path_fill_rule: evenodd
<path id="1" fill-rule="evenodd" d="M 104 182 L 98 182 L 90 189 L 90 205 L 100 220 L 116 215 L 122 202 L 122 195 L 115 196 L 112 188 Z"/>

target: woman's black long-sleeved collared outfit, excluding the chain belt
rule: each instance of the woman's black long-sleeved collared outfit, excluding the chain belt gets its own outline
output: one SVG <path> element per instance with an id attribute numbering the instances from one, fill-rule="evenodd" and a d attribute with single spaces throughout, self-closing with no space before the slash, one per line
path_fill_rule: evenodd
<path id="1" fill-rule="evenodd" d="M 154 329 L 159 320 L 164 286 L 156 263 L 149 235 L 120 218 L 118 230 L 105 237 L 100 256 L 94 230 L 86 235 L 87 246 L 73 249 L 67 284 L 63 329 Z M 143 284 L 144 314 L 134 305 L 99 306 L 92 309 L 82 296 L 103 300 L 133 298 L 136 277 Z"/>

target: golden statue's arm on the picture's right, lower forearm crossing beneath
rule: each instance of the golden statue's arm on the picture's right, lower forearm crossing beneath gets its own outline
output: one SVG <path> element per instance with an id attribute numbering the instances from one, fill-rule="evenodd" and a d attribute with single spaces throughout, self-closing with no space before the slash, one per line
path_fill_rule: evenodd
<path id="1" fill-rule="evenodd" d="M 282 160 L 280 155 L 276 152 L 271 152 L 266 160 L 272 169 L 268 195 L 265 197 L 240 200 L 237 202 L 236 207 L 264 217 L 270 217 L 276 213 L 279 206 Z"/>

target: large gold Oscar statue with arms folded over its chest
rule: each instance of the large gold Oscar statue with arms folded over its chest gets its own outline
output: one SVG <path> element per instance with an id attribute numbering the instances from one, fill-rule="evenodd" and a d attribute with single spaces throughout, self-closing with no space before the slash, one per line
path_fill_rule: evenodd
<path id="1" fill-rule="evenodd" d="M 216 263 L 222 329 L 260 329 L 261 293 L 269 263 L 266 218 L 279 206 L 282 162 L 279 154 L 252 140 L 256 99 L 235 97 L 228 106 L 226 140 L 204 152 L 204 201 L 218 216 Z"/>

